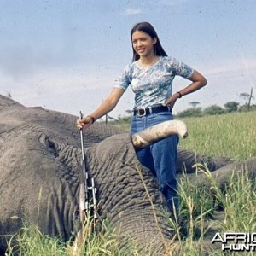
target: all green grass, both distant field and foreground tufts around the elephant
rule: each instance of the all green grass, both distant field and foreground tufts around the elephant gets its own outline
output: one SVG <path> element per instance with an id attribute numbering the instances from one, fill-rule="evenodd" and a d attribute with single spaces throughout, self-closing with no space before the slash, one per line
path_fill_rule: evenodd
<path id="1" fill-rule="evenodd" d="M 211 156 L 229 156 L 245 160 L 256 156 L 256 113 L 232 113 L 221 116 L 183 119 L 188 125 L 189 137 L 180 140 L 180 146 L 197 153 Z M 129 129 L 129 124 L 122 124 Z M 184 176 L 179 182 L 182 224 L 169 219 L 176 231 L 180 255 L 202 255 L 201 246 L 210 241 L 215 233 L 256 230 L 256 183 L 250 181 L 247 173 L 230 177 L 229 186 L 223 194 L 207 170 L 201 170 L 207 177 L 211 192 L 195 187 Z M 214 200 L 212 197 L 214 194 Z M 37 228 L 25 227 L 17 236 L 20 255 L 72 255 L 68 244 L 62 244 L 42 235 Z M 118 250 L 118 236 L 108 227 L 103 235 L 90 234 L 90 242 L 84 241 L 84 248 L 76 255 L 138 255 L 136 248 L 129 251 Z M 10 247 L 11 255 L 14 248 Z M 172 255 L 169 253 L 168 255 Z M 208 255 L 254 255 L 246 253 L 223 253 L 216 250 Z M 146 256 L 146 255 L 143 255 Z"/>

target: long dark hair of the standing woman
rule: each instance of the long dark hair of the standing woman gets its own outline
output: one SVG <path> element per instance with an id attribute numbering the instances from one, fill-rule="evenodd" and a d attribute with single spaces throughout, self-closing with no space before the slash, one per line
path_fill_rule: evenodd
<path id="1" fill-rule="evenodd" d="M 147 33 L 151 38 L 156 38 L 156 43 L 154 44 L 154 54 L 158 56 L 167 56 L 165 50 L 162 48 L 162 45 L 160 44 L 160 39 L 157 36 L 157 33 L 154 30 L 154 27 L 148 23 L 148 22 L 139 22 L 131 29 L 131 40 L 132 40 L 132 34 L 136 31 L 141 31 L 144 33 Z M 140 56 L 137 54 L 137 52 L 133 49 L 133 57 L 132 61 L 137 61 Z"/>

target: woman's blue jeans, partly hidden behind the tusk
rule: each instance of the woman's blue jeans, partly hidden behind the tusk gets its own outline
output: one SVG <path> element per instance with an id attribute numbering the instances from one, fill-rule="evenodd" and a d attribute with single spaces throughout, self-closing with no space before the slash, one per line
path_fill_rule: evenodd
<path id="1" fill-rule="evenodd" d="M 133 116 L 131 134 L 142 131 L 152 125 L 172 120 L 170 112 L 151 113 L 143 117 Z M 160 191 L 165 195 L 167 207 L 172 209 L 172 202 L 177 207 L 177 143 L 178 136 L 173 135 L 153 143 L 148 148 L 137 150 L 137 158 L 157 177 Z"/>

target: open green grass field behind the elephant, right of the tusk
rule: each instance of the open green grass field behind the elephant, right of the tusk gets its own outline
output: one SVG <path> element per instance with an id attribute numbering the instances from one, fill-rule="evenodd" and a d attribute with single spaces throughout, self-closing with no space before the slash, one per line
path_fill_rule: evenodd
<path id="1" fill-rule="evenodd" d="M 210 156 L 240 160 L 256 156 L 256 112 L 186 118 L 189 137 L 180 146 Z"/>

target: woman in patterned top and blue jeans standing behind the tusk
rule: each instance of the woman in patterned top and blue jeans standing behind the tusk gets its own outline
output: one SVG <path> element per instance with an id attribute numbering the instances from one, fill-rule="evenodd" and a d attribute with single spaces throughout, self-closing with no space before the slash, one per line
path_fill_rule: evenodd
<path id="1" fill-rule="evenodd" d="M 129 85 L 135 93 L 134 115 L 131 119 L 131 134 L 172 120 L 172 108 L 177 99 L 207 84 L 207 80 L 177 59 L 168 57 L 160 44 L 154 27 L 148 22 L 137 23 L 131 29 L 133 61 L 125 67 L 116 84 L 99 108 L 83 119 L 77 120 L 77 127 L 84 129 L 107 114 L 116 104 Z M 190 80 L 183 90 L 172 94 L 172 80 L 175 75 Z M 160 190 L 166 196 L 167 206 L 177 207 L 177 143 L 172 136 L 137 151 L 143 166 L 148 167 L 158 178 Z"/>

